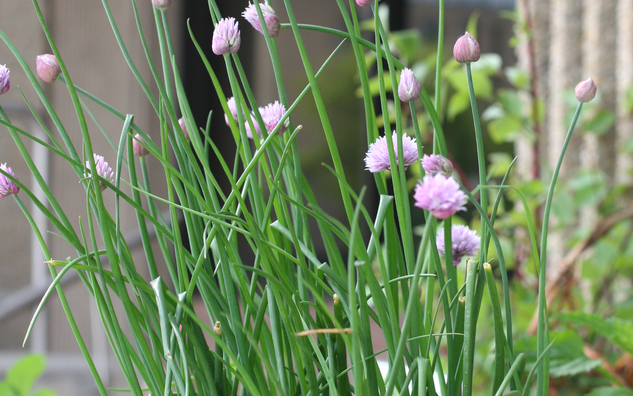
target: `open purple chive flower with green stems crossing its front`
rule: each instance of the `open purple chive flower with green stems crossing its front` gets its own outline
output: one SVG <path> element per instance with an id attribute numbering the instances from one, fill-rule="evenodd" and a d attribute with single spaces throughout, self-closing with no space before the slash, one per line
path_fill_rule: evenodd
<path id="1" fill-rule="evenodd" d="M 396 164 L 398 164 L 400 156 L 398 155 L 398 135 L 396 131 L 393 131 L 391 139 L 393 151 L 396 155 Z M 404 151 L 402 156 L 404 169 L 407 169 L 409 165 L 414 164 L 418 160 L 418 146 L 415 143 L 415 139 L 403 135 L 402 150 Z M 387 138 L 385 136 L 379 137 L 374 143 L 369 145 L 369 150 L 367 150 L 367 155 L 365 156 L 365 165 L 365 169 L 372 173 L 391 170 L 389 148 L 387 147 Z"/>

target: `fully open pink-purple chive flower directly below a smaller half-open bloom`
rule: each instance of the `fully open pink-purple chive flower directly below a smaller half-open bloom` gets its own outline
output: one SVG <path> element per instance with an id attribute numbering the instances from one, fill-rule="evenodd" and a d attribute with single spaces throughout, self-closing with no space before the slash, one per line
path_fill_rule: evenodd
<path id="1" fill-rule="evenodd" d="M 437 219 L 443 220 L 459 210 L 466 210 L 466 194 L 452 177 L 441 173 L 424 176 L 415 187 L 415 206 L 426 209 Z"/>

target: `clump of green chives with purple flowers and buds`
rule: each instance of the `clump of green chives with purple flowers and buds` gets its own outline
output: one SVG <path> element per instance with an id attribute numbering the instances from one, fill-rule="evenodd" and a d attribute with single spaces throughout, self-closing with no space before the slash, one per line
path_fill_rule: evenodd
<path id="1" fill-rule="evenodd" d="M 0 38 L 24 69 L 57 131 L 54 133 L 33 113 L 51 141 L 43 142 L 13 125 L 0 109 L 0 123 L 9 131 L 46 196 L 46 202 L 38 200 L 29 186 L 20 182 L 18 176 L 24 175 L 16 176 L 6 164 L 0 166 L 0 196 L 13 196 L 24 212 L 41 242 L 52 276 L 25 342 L 43 304 L 56 291 L 99 392 L 108 394 L 60 284 L 68 271 L 76 271 L 96 303 L 128 382 L 127 390 L 136 396 L 145 392 L 166 396 L 527 395 L 533 389 L 534 375 L 537 394 L 547 394 L 551 340 L 544 286 L 549 211 L 558 170 L 582 103 L 595 95 L 593 81 L 582 82 L 576 89 L 580 105 L 551 180 L 540 246 L 536 245 L 531 216 L 527 216 L 539 268 L 538 361 L 528 375 L 522 375 L 525 356 L 514 354 L 511 290 L 494 228 L 501 194 L 494 204 L 488 202 L 489 189 L 513 188 L 506 185 L 512 166 L 501 184 L 491 184 L 470 69 L 470 63 L 479 59 L 479 44 L 466 33 L 455 44 L 453 54 L 465 64 L 479 184 L 469 191 L 453 177 L 439 117 L 443 1 L 439 3 L 433 101 L 413 72 L 390 50 L 377 1 L 356 0 L 355 4 L 336 0 L 346 27 L 340 31 L 310 25 L 309 20 L 299 21 L 290 0 L 283 1 L 289 20 L 284 24 L 268 3 L 249 3 L 240 18 L 223 15 L 210 0 L 214 22 L 209 28 L 214 53 L 210 56 L 224 58 L 230 91 L 221 88 L 208 55 L 191 30 L 190 39 L 222 103 L 226 135 L 235 139 L 234 163 L 226 160 L 227 153 L 211 139 L 210 123 L 197 125 L 193 118 L 166 18 L 171 1 L 152 2 L 160 47 L 156 63 L 143 35 L 136 0 L 131 4 L 151 70 L 152 78 L 146 80 L 121 39 L 108 1 L 102 0 L 122 55 L 159 121 L 160 131 L 151 134 L 124 109 L 116 109 L 74 85 L 38 1 L 33 0 L 52 50 L 52 54 L 38 57 L 36 72 L 45 83 L 66 85 L 82 132 L 81 144 L 75 145 L 31 70 L 31 63 L 0 31 Z M 372 11 L 373 41 L 360 34 L 357 12 L 363 6 Z M 270 54 L 278 100 L 267 106 L 256 102 L 240 62 L 240 28 L 251 28 L 246 21 L 263 34 Z M 341 39 L 318 69 L 313 68 L 304 44 L 305 30 Z M 308 79 L 296 98 L 289 97 L 283 85 L 280 65 L 284 60 L 275 41 L 279 34 L 294 37 Z M 344 47 L 351 47 L 360 76 L 368 147 L 365 163 L 375 181 L 375 185 L 360 191 L 348 183 L 332 127 L 337 120 L 330 118 L 328 103 L 319 88 L 323 70 Z M 379 108 L 374 107 L 370 94 L 370 71 L 365 60 L 368 53 L 378 59 L 375 73 Z M 397 91 L 390 86 L 398 87 Z M 9 88 L 9 70 L 2 67 L 0 94 L 7 94 Z M 301 168 L 296 137 L 302 126 L 294 123 L 292 115 L 306 95 L 314 100 L 327 141 L 332 164 L 327 170 L 339 187 L 345 209 L 343 220 L 333 218 L 319 206 L 313 192 L 318 186 L 306 182 Z M 394 106 L 389 106 L 390 101 Z M 422 155 L 416 101 L 422 102 L 432 123 L 430 156 Z M 121 120 L 117 155 L 109 162 L 91 144 L 86 115 L 92 117 L 92 113 L 87 102 Z M 413 136 L 408 136 L 403 126 L 403 102 L 409 103 Z M 384 125 L 377 122 L 379 115 Z M 395 123 L 391 124 L 390 119 Z M 98 124 L 97 119 L 93 120 Z M 79 229 L 70 223 L 46 185 L 23 138 L 65 160 L 83 184 L 86 220 L 80 221 Z M 160 166 L 148 168 L 148 156 Z M 209 166 L 209 156 L 220 163 L 230 191 L 220 188 Z M 424 175 L 414 191 L 407 185 L 407 169 L 411 166 L 419 167 Z M 149 175 L 155 172 L 161 172 L 167 182 L 162 194 L 154 192 L 149 184 Z M 130 193 L 124 192 L 123 186 Z M 369 190 L 380 194 L 375 209 L 365 205 Z M 414 205 L 410 204 L 411 198 Z M 34 202 L 48 217 L 59 237 L 74 248 L 73 257 L 61 260 L 50 255 L 23 199 Z M 110 200 L 115 202 L 114 212 L 106 208 L 105 202 Z M 159 203 L 168 205 L 166 215 L 158 210 Z M 453 217 L 466 211 L 467 203 L 481 219 L 479 234 L 466 226 L 452 225 Z M 146 264 L 133 260 L 122 234 L 122 205 L 135 212 Z M 423 224 L 414 224 L 413 211 L 423 211 Z M 311 221 L 317 229 L 308 226 Z M 421 237 L 413 232 L 418 226 L 423 229 Z M 363 229 L 369 230 L 367 238 Z M 238 245 L 238 239 L 246 243 Z M 324 259 L 317 254 L 315 239 L 323 242 Z M 498 254 L 499 279 L 486 262 L 491 242 Z M 345 253 L 339 248 L 341 244 Z M 143 265 L 148 267 L 149 278 L 139 273 Z M 169 279 L 158 275 L 159 265 L 166 266 L 162 272 Z M 459 265 L 466 267 L 461 284 L 456 270 Z M 483 299 L 486 290 L 488 300 Z M 194 311 L 194 299 L 201 300 L 206 312 Z M 483 301 L 489 301 L 490 307 L 482 311 Z M 123 310 L 115 310 L 115 305 L 122 305 Z M 482 317 L 481 312 L 491 315 Z M 489 384 L 475 389 L 473 378 L 482 370 L 475 365 L 477 324 L 483 321 L 494 329 L 494 373 L 488 376 Z M 121 322 L 127 324 L 129 332 L 122 330 Z M 372 330 L 375 328 L 379 330 Z M 385 350 L 375 349 L 372 341 L 376 338 L 384 339 Z M 383 352 L 389 367 L 386 372 L 381 371 L 378 361 Z"/>

